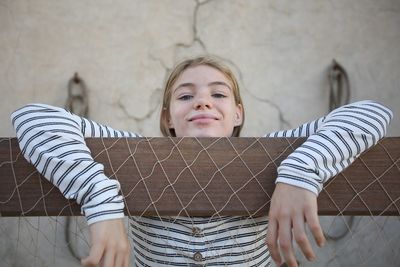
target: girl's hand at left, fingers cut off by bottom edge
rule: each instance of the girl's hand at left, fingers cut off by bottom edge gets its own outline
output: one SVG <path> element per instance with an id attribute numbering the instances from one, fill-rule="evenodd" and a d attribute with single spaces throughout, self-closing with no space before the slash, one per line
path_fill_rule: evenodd
<path id="1" fill-rule="evenodd" d="M 84 267 L 128 267 L 130 244 L 123 219 L 106 220 L 90 225 L 91 248 L 82 259 Z"/>

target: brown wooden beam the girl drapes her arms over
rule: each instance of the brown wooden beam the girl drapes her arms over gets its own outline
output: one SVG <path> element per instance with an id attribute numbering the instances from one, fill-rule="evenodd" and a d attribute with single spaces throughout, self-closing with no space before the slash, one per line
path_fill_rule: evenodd
<path id="1" fill-rule="evenodd" d="M 88 139 L 122 186 L 129 215 L 265 215 L 276 168 L 304 139 Z M 318 198 L 321 215 L 400 215 L 400 137 L 385 138 Z M 1 216 L 80 215 L 75 203 L 0 138 Z"/>

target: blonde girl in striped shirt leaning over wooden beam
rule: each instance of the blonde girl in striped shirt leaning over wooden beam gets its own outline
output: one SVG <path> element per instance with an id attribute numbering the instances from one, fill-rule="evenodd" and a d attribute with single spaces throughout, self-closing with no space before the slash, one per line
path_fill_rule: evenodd
<path id="1" fill-rule="evenodd" d="M 244 117 L 238 83 L 218 59 L 185 60 L 165 84 L 160 119 L 164 136 L 239 136 Z M 283 261 L 297 266 L 292 239 L 313 260 L 305 226 L 323 245 L 316 202 L 322 184 L 376 144 L 391 118 L 386 107 L 362 101 L 297 129 L 266 135 L 308 137 L 278 168 L 269 221 L 267 217 L 132 217 L 135 266 L 269 266 L 270 258 L 278 266 Z M 82 206 L 92 244 L 82 264 L 129 266 L 131 249 L 119 183 L 104 175 L 84 138 L 139 135 L 43 104 L 15 111 L 12 123 L 25 158 L 66 198 Z"/>

